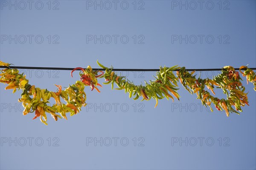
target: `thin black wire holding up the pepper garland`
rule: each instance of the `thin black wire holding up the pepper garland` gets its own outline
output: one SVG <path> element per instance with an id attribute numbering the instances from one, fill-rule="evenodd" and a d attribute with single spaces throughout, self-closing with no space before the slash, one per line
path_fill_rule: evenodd
<path id="1" fill-rule="evenodd" d="M 0 66 L 0 68 L 8 68 L 7 66 Z M 10 69 L 47 69 L 47 70 L 73 70 L 74 68 L 63 68 L 63 67 L 28 67 L 28 66 L 9 66 Z M 239 68 L 234 68 L 235 70 L 239 70 Z M 250 68 L 256 70 L 256 68 Z M 93 69 L 99 71 L 105 71 L 105 69 Z M 113 71 L 144 71 L 144 72 L 157 72 L 159 69 L 112 69 Z M 222 69 L 186 69 L 187 71 L 221 71 Z M 242 69 L 246 70 L 246 69 Z M 174 71 L 179 71 L 176 69 Z"/>

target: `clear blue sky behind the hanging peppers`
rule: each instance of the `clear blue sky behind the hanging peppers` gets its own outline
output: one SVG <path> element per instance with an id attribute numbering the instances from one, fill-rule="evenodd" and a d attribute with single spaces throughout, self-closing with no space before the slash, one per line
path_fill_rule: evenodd
<path id="1" fill-rule="evenodd" d="M 0 0 L 0 60 L 16 66 L 98 68 L 99 59 L 114 68 L 256 67 L 255 30 L 254 0 Z M 52 91 L 79 79 L 20 72 Z M 155 72 L 122 75 L 141 84 Z M 104 85 L 85 89 L 87 107 L 67 121 L 48 115 L 48 126 L 22 115 L 21 92 L 0 84 L 0 169 L 255 170 L 256 92 L 243 80 L 250 106 L 240 115 L 209 112 L 181 84 L 180 101 L 157 108 Z"/>

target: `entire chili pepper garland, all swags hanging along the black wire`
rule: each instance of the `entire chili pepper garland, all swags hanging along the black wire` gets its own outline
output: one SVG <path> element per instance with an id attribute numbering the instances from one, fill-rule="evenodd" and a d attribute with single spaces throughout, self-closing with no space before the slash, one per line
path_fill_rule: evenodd
<path id="1" fill-rule="evenodd" d="M 173 66 L 169 68 L 164 66 L 160 67 L 159 71 L 156 73 L 156 77 L 154 76 L 155 80 L 149 82 L 145 81 L 145 86 L 142 84 L 138 86 L 126 79 L 125 76 L 116 75 L 116 73 L 112 71 L 112 66 L 108 68 L 98 61 L 97 63 L 100 67 L 105 69 L 105 72 L 99 70 L 93 71 L 90 66 L 88 66 L 87 69 L 77 67 L 71 72 L 71 77 L 73 77 L 73 72 L 79 69 L 82 71 L 79 73 L 80 81 L 76 81 L 75 84 L 69 85 L 69 87 L 64 90 L 60 85 L 55 85 L 58 87 L 56 92 L 40 89 L 34 85 L 28 84 L 29 80 L 26 79 L 26 75 L 19 74 L 17 69 L 6 68 L 1 70 L 0 83 L 8 84 L 5 89 L 13 89 L 13 93 L 16 92 L 17 89 L 23 90 L 21 98 L 18 100 L 22 102 L 25 108 L 23 115 L 29 112 L 35 112 L 33 119 L 40 116 L 41 122 L 46 125 L 46 112 L 50 113 L 52 118 L 57 121 L 58 118 L 61 117 L 67 119 L 67 112 L 70 112 L 70 116 L 72 116 L 81 111 L 81 107 L 86 106 L 84 87 L 90 86 L 91 90 L 96 89 L 100 92 L 97 86 L 102 86 L 98 83 L 97 78 L 105 78 L 107 82 L 103 84 L 111 84 L 112 89 L 113 85 L 116 84 L 118 86 L 116 89 L 124 89 L 125 93 L 129 93 L 129 98 L 133 96 L 134 100 L 137 100 L 140 96 L 142 97 L 142 101 L 148 101 L 153 98 L 156 100 L 155 107 L 157 107 L 159 99 L 166 98 L 169 100 L 169 98 L 171 98 L 172 101 L 174 101 L 175 97 L 179 100 L 180 96 L 177 93 L 178 80 L 180 80 L 180 83 L 191 94 L 196 93 L 198 99 L 201 100 L 204 106 L 211 108 L 211 104 L 213 103 L 218 110 L 224 109 L 227 116 L 229 116 L 230 112 L 239 114 L 239 112 L 242 112 L 241 106 L 243 107 L 245 104 L 249 105 L 247 93 L 244 93 L 245 88 L 241 83 L 242 79 L 239 76 L 239 72 L 236 72 L 232 66 L 225 66 L 221 74 L 215 76 L 213 79 L 196 78 L 196 75 L 193 75 L 195 71 L 189 73 L 186 71 L 185 67 L 180 68 Z M 0 66 L 9 67 L 9 65 L 9 63 L 0 61 Z M 179 69 L 179 71 L 176 72 L 176 77 L 173 71 L 177 69 Z M 242 72 L 241 69 L 246 70 Z M 247 84 L 248 81 L 253 83 L 254 90 L 256 91 L 256 75 L 253 70 L 247 68 L 247 66 L 241 66 L 239 71 L 246 77 Z M 99 72 L 100 74 L 98 75 Z M 227 95 L 227 99 L 213 97 L 208 90 L 205 89 L 205 86 L 211 90 L 214 95 L 214 88 L 221 88 Z M 52 106 L 48 105 L 50 98 L 54 98 L 55 100 L 55 104 Z M 66 104 L 61 101 L 61 98 Z M 60 113 L 60 115 L 58 115 L 58 113 Z"/>

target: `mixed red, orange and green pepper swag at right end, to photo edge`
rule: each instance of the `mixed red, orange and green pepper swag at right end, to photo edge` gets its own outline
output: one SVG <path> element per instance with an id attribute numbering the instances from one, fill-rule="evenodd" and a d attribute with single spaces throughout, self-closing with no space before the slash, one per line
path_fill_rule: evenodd
<path id="1" fill-rule="evenodd" d="M 241 69 L 246 69 L 244 73 Z M 240 67 L 240 72 L 246 76 L 248 81 L 254 84 L 254 90 L 256 91 L 256 76 L 255 73 L 248 69 L 246 66 Z M 229 116 L 230 112 L 235 112 L 239 114 L 242 112 L 241 106 L 248 104 L 247 93 L 244 93 L 245 87 L 241 83 L 241 77 L 239 72 L 236 72 L 232 66 L 224 66 L 221 70 L 221 74 L 215 76 L 213 79 L 201 79 L 196 78 L 194 71 L 189 73 L 186 71 L 185 67 L 182 67 L 177 71 L 177 77 L 180 79 L 180 83 L 188 90 L 191 94 L 197 93 L 198 99 L 201 100 L 202 104 L 207 107 L 209 106 L 211 111 L 211 104 L 213 103 L 218 110 L 224 109 L 226 115 Z M 245 75 L 246 74 L 246 75 Z M 221 88 L 224 94 L 227 95 L 227 99 L 219 99 L 212 96 L 205 86 L 211 90 L 212 94 L 215 95 L 213 89 Z M 235 109 L 232 107 L 234 106 Z M 239 112 L 237 112 L 239 111 Z"/>

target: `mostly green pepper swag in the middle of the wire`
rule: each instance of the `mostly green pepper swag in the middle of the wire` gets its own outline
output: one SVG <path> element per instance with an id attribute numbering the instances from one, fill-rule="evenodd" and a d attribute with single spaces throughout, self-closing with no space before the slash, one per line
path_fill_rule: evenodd
<path id="1" fill-rule="evenodd" d="M 150 100 L 153 98 L 156 100 L 155 107 L 157 107 L 158 99 L 162 98 L 172 98 L 172 101 L 174 101 L 173 96 L 179 100 L 180 96 L 177 93 L 177 77 L 173 74 L 173 71 L 177 69 L 177 66 L 173 67 L 160 67 L 160 71 L 157 72 L 157 77 L 154 77 L 154 81 L 149 81 L 147 83 L 145 81 L 145 86 L 140 85 L 134 85 L 133 82 L 127 80 L 124 76 L 118 76 L 115 72 L 112 71 L 113 67 L 107 68 L 103 66 L 99 61 L 97 61 L 98 65 L 105 69 L 105 73 L 100 78 L 105 78 L 105 81 L 108 81 L 107 83 L 103 84 L 111 84 L 113 89 L 113 84 L 115 83 L 119 88 L 116 88 L 117 90 L 125 90 L 125 93 L 129 92 L 129 98 L 132 96 L 135 96 L 133 99 L 137 100 L 140 96 L 143 100 Z M 171 94 L 169 94 L 171 93 Z"/>

